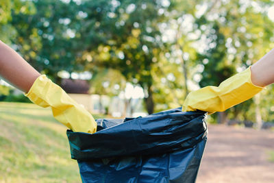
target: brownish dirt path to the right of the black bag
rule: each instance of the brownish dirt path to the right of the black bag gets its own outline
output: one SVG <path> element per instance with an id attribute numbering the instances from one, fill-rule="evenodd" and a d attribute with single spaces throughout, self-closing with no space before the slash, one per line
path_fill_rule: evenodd
<path id="1" fill-rule="evenodd" d="M 274 132 L 208 126 L 208 144 L 197 183 L 274 182 Z"/>

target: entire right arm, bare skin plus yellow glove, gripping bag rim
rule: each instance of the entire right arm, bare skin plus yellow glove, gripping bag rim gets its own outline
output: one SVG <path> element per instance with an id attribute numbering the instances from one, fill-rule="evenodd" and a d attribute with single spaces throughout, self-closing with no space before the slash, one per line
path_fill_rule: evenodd
<path id="1" fill-rule="evenodd" d="M 184 101 L 183 111 L 203 110 L 210 114 L 222 112 L 242 103 L 274 82 L 274 50 L 256 64 L 217 86 L 206 86 L 190 93 Z"/>

